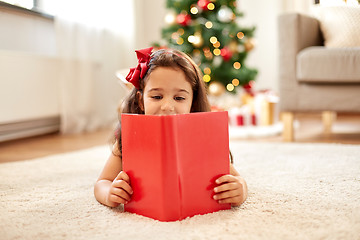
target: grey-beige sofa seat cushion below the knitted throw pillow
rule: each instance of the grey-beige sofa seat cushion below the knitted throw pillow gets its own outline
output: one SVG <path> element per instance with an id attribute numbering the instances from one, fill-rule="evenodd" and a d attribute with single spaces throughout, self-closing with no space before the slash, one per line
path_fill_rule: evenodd
<path id="1" fill-rule="evenodd" d="M 309 47 L 296 58 L 300 82 L 360 83 L 360 47 Z"/>

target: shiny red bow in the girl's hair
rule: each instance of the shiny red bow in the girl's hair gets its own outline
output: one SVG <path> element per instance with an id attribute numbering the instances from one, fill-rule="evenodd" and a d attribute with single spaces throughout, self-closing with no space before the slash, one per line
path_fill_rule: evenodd
<path id="1" fill-rule="evenodd" d="M 139 89 L 139 80 L 145 76 L 149 68 L 148 64 L 150 61 L 152 49 L 152 47 L 149 47 L 135 51 L 138 58 L 138 65 L 136 66 L 136 68 L 130 68 L 130 72 L 126 76 L 126 80 L 132 83 L 132 85 L 134 85 L 136 89 Z"/>

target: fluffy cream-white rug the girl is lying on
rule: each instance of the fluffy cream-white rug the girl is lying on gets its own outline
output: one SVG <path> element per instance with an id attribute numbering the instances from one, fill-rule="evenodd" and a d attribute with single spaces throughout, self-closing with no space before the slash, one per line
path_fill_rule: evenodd
<path id="1" fill-rule="evenodd" d="M 177 222 L 94 199 L 108 146 L 0 164 L 0 238 L 360 239 L 360 146 L 231 142 L 231 149 L 248 182 L 246 203 Z"/>

